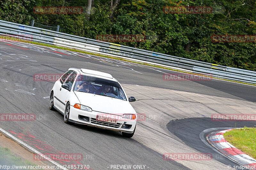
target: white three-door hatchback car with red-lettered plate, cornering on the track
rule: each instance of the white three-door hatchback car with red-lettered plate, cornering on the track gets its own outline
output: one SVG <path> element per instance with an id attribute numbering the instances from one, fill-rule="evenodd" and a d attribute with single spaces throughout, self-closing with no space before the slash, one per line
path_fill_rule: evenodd
<path id="1" fill-rule="evenodd" d="M 111 74 L 89 69 L 69 68 L 50 93 L 50 110 L 64 115 L 65 123 L 84 124 L 120 131 L 131 138 L 137 113 L 121 84 Z"/>

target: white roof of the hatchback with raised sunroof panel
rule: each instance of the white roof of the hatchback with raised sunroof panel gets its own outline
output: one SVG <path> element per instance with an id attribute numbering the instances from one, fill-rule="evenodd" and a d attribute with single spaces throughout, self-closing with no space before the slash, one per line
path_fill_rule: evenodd
<path id="1" fill-rule="evenodd" d="M 85 68 L 69 68 L 68 70 L 78 71 L 81 75 L 87 75 L 87 76 L 92 76 L 92 77 L 97 77 L 97 78 L 102 78 L 102 79 L 107 79 L 107 80 L 112 80 L 117 82 L 117 80 L 113 78 L 111 74 L 104 73 L 101 71 L 89 70 Z"/>

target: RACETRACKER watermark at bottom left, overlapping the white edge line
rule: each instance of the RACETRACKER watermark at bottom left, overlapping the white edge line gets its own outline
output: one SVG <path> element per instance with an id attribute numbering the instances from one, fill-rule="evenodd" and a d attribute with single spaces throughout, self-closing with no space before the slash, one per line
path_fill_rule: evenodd
<path id="1" fill-rule="evenodd" d="M 71 160 L 77 160 L 81 161 L 83 160 L 83 154 L 81 153 L 44 153 L 44 154 L 34 154 L 33 156 L 34 160 L 37 161 L 47 161 L 49 159 L 52 160 L 62 160 L 62 161 L 71 161 Z"/>

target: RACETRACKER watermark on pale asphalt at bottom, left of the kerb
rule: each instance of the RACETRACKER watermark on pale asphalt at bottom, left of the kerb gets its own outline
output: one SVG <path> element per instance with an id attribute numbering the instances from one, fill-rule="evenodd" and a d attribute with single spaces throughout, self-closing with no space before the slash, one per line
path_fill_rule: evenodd
<path id="1" fill-rule="evenodd" d="M 164 160 L 212 160 L 212 153 L 164 153 Z"/>

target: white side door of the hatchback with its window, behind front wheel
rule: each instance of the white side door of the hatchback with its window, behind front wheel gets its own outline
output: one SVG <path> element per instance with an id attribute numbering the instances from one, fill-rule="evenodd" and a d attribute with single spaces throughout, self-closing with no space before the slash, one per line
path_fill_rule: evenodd
<path id="1" fill-rule="evenodd" d="M 69 89 L 64 89 L 64 88 L 60 88 L 60 90 L 58 91 L 58 99 L 60 101 L 60 111 L 62 111 L 64 113 L 65 111 L 65 107 L 66 107 L 66 103 L 67 103 L 67 98 L 70 96 L 70 93 L 72 92 L 72 85 L 74 84 L 76 78 L 76 72 L 74 71 L 73 73 L 71 73 L 68 78 L 65 80 L 64 83 L 69 84 Z"/>

